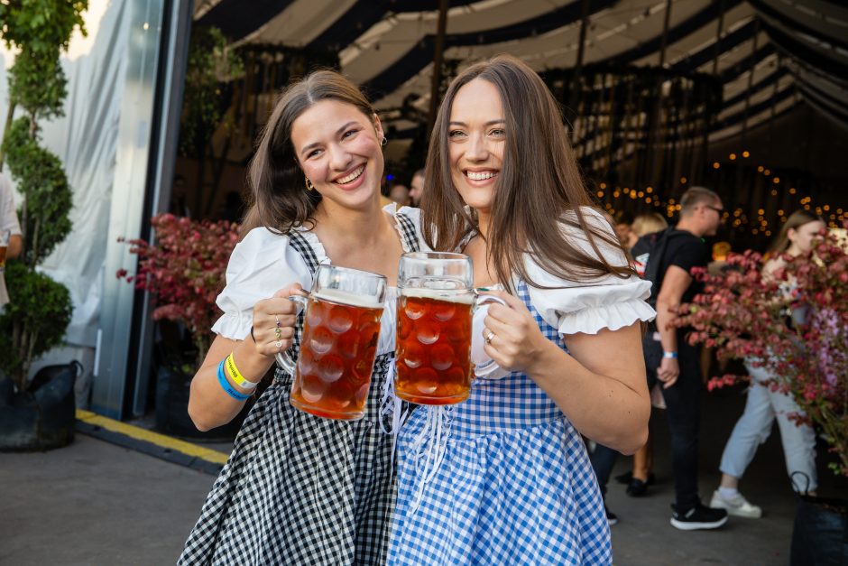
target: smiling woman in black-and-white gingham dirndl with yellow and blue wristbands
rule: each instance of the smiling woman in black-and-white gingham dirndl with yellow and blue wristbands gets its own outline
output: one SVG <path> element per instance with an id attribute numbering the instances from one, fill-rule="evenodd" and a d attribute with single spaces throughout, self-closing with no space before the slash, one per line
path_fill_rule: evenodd
<path id="1" fill-rule="evenodd" d="M 253 227 L 235 247 L 217 338 L 191 383 L 200 430 L 230 421 L 272 367 L 297 352 L 302 316 L 288 297 L 319 264 L 383 274 L 394 285 L 404 251 L 418 249 L 418 211 L 380 206 L 383 126 L 347 79 L 318 71 L 278 99 L 250 165 Z M 394 508 L 392 437 L 381 393 L 394 350 L 394 292 L 381 320 L 364 419 L 341 422 L 289 403 L 277 369 L 235 440 L 182 564 L 376 564 Z M 235 367 L 235 371 L 234 368 Z"/>

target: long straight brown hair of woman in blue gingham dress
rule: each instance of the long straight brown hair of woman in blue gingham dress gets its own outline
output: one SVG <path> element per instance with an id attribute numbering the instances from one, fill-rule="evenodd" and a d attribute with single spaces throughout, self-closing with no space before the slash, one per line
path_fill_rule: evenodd
<path id="1" fill-rule="evenodd" d="M 539 75 L 521 60 L 501 55 L 469 67 L 454 79 L 438 110 L 430 138 L 421 198 L 421 230 L 437 250 L 455 250 L 477 218 L 451 179 L 448 123 L 457 91 L 474 79 L 493 84 L 501 95 L 506 121 L 502 169 L 494 188 L 487 253 L 500 283 L 512 289 L 512 274 L 530 285 L 524 267 L 530 254 L 540 267 L 562 279 L 590 282 L 607 274 L 622 278 L 631 267 L 611 265 L 598 242 L 624 250 L 611 232 L 590 226 L 581 207 L 592 206 L 568 144 L 558 103 Z M 606 218 L 604 216 L 604 218 Z M 585 253 L 564 237 L 563 227 L 581 230 L 594 254 Z M 612 228 L 611 228 L 612 230 Z"/>

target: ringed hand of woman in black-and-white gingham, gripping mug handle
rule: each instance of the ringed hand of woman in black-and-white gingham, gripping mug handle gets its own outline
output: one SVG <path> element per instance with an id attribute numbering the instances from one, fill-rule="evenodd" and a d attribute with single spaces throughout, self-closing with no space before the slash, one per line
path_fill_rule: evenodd
<path id="1" fill-rule="evenodd" d="M 291 346 L 294 327 L 298 322 L 298 304 L 289 297 L 306 294 L 300 283 L 291 283 L 275 292 L 270 299 L 253 305 L 251 338 L 256 352 L 273 357 Z"/>

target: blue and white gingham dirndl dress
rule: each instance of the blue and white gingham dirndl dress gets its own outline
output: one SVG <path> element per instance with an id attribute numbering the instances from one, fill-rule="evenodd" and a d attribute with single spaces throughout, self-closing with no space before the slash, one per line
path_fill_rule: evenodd
<path id="1" fill-rule="evenodd" d="M 518 295 L 565 350 L 526 283 Z M 398 487 L 389 564 L 612 562 L 583 439 L 524 374 L 478 379 L 464 403 L 412 413 L 398 443 Z"/>

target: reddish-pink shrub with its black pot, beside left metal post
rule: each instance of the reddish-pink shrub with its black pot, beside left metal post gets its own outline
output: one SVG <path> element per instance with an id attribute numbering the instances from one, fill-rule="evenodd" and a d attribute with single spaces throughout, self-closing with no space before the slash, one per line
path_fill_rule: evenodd
<path id="1" fill-rule="evenodd" d="M 212 324 L 221 315 L 215 300 L 226 283 L 226 264 L 238 240 L 238 226 L 172 214 L 157 215 L 151 223 L 152 243 L 127 241 L 130 252 L 138 255 L 137 272 L 122 269 L 116 275 L 153 295 L 153 320 L 172 323 L 161 329 L 166 338 L 157 348 L 156 426 L 179 436 L 229 436 L 238 430 L 241 419 L 226 429 L 201 433 L 190 422 L 187 407 L 191 377 L 206 357 Z"/>

